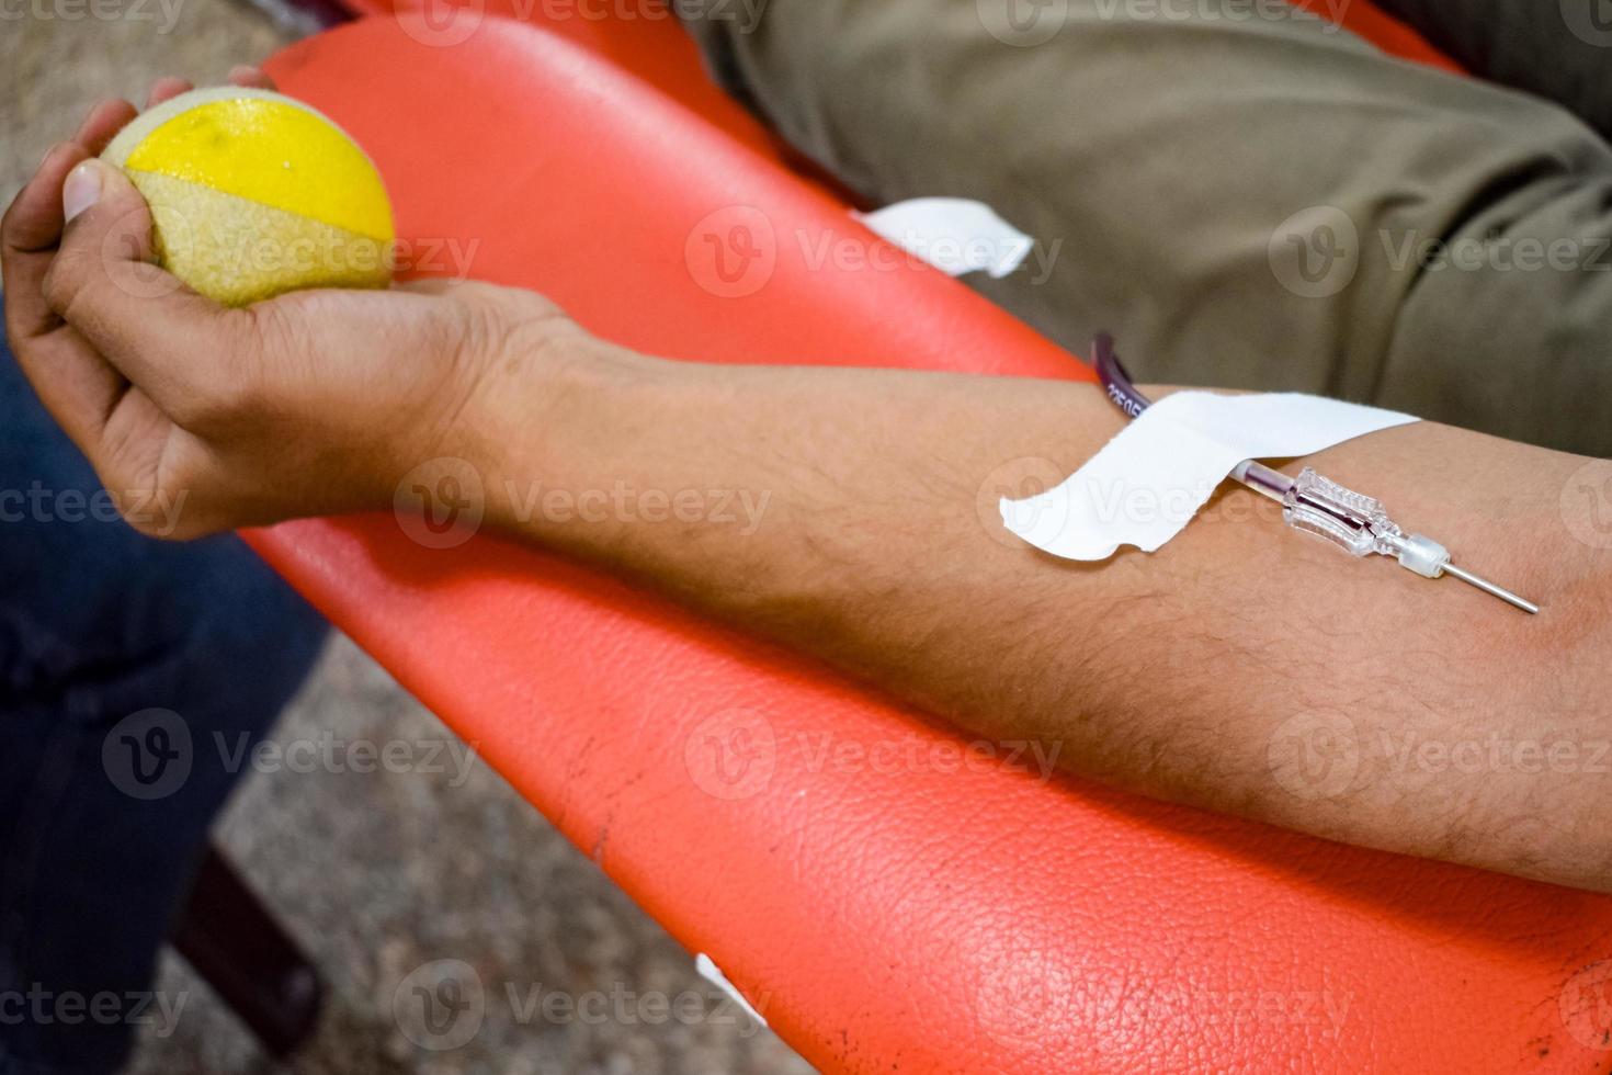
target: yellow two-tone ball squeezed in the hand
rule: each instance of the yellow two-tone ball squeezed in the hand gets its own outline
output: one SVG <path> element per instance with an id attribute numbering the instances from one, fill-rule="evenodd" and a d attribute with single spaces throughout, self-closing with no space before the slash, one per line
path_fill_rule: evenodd
<path id="1" fill-rule="evenodd" d="M 239 87 L 181 93 L 124 127 L 102 160 L 150 203 L 163 268 L 219 303 L 392 280 L 380 174 L 301 102 Z"/>

